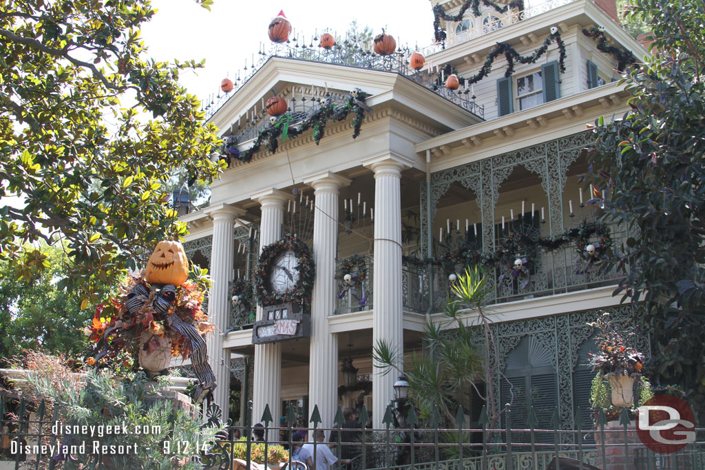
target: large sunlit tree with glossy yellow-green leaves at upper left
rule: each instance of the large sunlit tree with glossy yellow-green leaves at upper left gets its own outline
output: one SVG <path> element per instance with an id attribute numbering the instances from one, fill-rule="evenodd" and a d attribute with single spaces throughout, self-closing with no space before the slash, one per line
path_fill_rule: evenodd
<path id="1" fill-rule="evenodd" d="M 207 7 L 211 0 L 197 0 Z M 210 181 L 219 144 L 178 84 L 202 64 L 147 57 L 149 0 L 0 2 L 0 256 L 34 276 L 23 245 L 66 242 L 59 287 L 97 299 L 158 240 L 185 233 L 164 204 L 181 169 Z"/>

